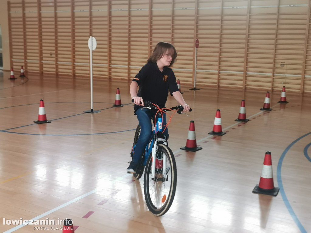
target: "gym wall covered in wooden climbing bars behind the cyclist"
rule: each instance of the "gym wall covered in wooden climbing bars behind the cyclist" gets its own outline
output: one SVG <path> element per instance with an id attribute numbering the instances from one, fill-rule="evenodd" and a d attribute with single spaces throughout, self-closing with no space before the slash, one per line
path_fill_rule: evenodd
<path id="1" fill-rule="evenodd" d="M 311 0 L 11 0 L 10 66 L 27 72 L 131 80 L 159 41 L 174 72 L 197 87 L 311 92 Z M 5 7 L 1 10 L 1 15 Z"/>

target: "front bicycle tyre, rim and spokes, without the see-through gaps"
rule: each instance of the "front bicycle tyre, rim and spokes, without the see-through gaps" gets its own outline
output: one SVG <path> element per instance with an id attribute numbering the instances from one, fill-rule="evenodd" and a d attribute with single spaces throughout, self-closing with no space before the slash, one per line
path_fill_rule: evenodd
<path id="1" fill-rule="evenodd" d="M 157 202 L 157 204 L 161 205 L 160 207 L 156 207 L 156 205 L 153 203 L 152 198 L 151 198 L 151 194 L 153 194 L 153 193 L 150 193 L 149 189 L 150 189 L 150 185 L 151 185 L 152 189 L 158 189 L 156 187 L 156 181 L 155 180 L 161 179 L 161 178 L 155 178 L 155 180 L 152 180 L 150 178 L 152 156 L 149 156 L 147 163 L 146 163 L 145 177 L 144 177 L 144 192 L 145 192 L 146 204 L 147 204 L 150 212 L 156 216 L 161 216 L 169 210 L 169 208 L 171 207 L 173 200 L 174 200 L 176 186 L 177 186 L 177 167 L 176 167 L 176 161 L 174 158 L 174 154 L 168 146 L 166 146 L 164 144 L 159 144 L 158 149 L 159 149 L 158 154 L 163 153 L 167 157 L 166 165 L 162 164 L 162 169 L 165 166 L 167 178 L 166 179 L 162 178 L 161 188 L 160 188 L 159 184 L 158 184 L 158 188 L 160 188 L 161 189 L 160 192 L 162 192 L 162 186 L 165 186 L 164 185 L 165 182 L 169 182 L 170 183 L 169 184 L 169 186 L 170 186 L 169 192 L 167 193 L 167 196 L 165 193 L 165 201 L 163 203 L 163 198 L 161 199 L 161 196 L 159 198 L 157 195 L 159 190 L 156 190 L 156 196 L 157 196 L 158 201 L 155 201 L 155 202 Z M 170 171 L 171 171 L 170 172 L 170 180 L 168 180 L 169 175 L 167 173 L 167 167 L 166 167 L 168 164 L 170 166 Z M 161 173 L 158 172 L 157 174 L 161 174 Z M 152 182 L 154 183 L 154 185 L 152 184 Z M 165 188 L 164 188 L 164 192 L 165 192 Z M 161 203 L 163 203 L 163 205 L 159 202 L 160 199 L 161 199 Z"/>

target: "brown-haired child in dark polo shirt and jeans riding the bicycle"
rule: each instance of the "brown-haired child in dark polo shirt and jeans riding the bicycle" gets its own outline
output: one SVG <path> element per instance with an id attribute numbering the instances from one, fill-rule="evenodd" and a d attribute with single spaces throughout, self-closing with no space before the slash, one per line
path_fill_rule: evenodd
<path id="1" fill-rule="evenodd" d="M 176 61 L 177 52 L 171 43 L 159 42 L 153 53 L 147 60 L 130 85 L 130 94 L 134 99 L 134 115 L 137 115 L 141 133 L 137 140 L 135 153 L 127 171 L 136 173 L 142 154 L 151 137 L 151 119 L 155 120 L 155 110 L 144 107 L 144 100 L 157 104 L 160 108 L 165 107 L 168 92 L 183 106 L 183 112 L 188 112 L 190 106 L 186 104 L 179 92 L 176 77 L 170 66 Z M 137 87 L 139 86 L 138 92 Z M 166 125 L 166 116 L 163 114 L 163 126 Z M 163 132 L 166 140 L 169 138 L 168 129 Z"/>

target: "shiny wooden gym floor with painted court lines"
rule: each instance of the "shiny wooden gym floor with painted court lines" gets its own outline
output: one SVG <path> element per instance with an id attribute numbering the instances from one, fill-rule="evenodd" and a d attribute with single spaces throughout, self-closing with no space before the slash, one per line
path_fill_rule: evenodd
<path id="1" fill-rule="evenodd" d="M 95 232 L 311 232 L 311 96 L 286 92 L 288 104 L 271 93 L 271 112 L 260 111 L 266 90 L 189 90 L 193 108 L 175 115 L 169 146 L 178 182 L 162 217 L 146 207 L 143 179 L 126 173 L 137 126 L 129 82 L 90 81 L 28 74 L 0 78 L 0 232 L 62 232 L 60 226 L 3 225 L 6 220 L 71 218 L 76 233 Z M 198 87 L 198 86 L 197 86 Z M 124 107 L 112 107 L 116 89 Z M 35 124 L 40 99 L 49 124 Z M 234 121 L 245 99 L 251 121 Z M 177 102 L 169 96 L 167 107 Z M 216 109 L 223 136 L 208 135 Z M 185 152 L 190 121 L 203 149 Z M 253 194 L 263 159 L 271 151 L 276 197 Z M 46 227 L 38 230 L 36 227 Z M 35 229 L 34 229 L 35 228 Z"/>

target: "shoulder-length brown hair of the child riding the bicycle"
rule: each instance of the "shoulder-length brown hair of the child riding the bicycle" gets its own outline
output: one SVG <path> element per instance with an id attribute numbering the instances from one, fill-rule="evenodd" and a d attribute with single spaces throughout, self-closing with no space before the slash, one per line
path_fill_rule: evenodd
<path id="1" fill-rule="evenodd" d="M 171 56 L 172 56 L 172 61 L 168 67 L 172 66 L 174 62 L 176 62 L 177 60 L 176 49 L 174 45 L 172 45 L 171 43 L 163 42 L 163 41 L 157 43 L 155 49 L 153 50 L 151 56 L 148 58 L 147 62 L 155 63 L 158 59 L 161 59 L 161 57 L 163 57 L 164 53 L 166 53 L 167 50 L 170 50 Z"/>

